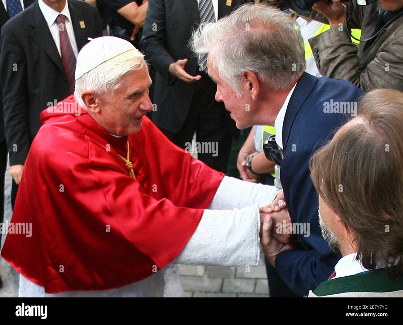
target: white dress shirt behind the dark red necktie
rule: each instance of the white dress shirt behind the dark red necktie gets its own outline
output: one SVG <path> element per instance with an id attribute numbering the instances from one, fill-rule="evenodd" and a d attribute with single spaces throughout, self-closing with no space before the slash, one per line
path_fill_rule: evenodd
<path id="1" fill-rule="evenodd" d="M 58 25 L 58 23 L 56 23 L 56 18 L 58 17 L 59 14 L 64 14 L 64 16 L 66 16 L 65 25 L 66 25 L 67 34 L 69 35 L 69 39 L 70 39 L 71 47 L 73 48 L 74 55 L 77 58 L 77 54 L 78 54 L 77 43 L 75 41 L 73 24 L 71 23 L 71 16 L 70 16 L 70 11 L 69 11 L 69 6 L 67 5 L 67 1 L 66 1 L 66 5 L 64 6 L 62 12 L 57 12 L 56 10 L 53 10 L 48 5 L 46 5 L 42 0 L 39 0 L 38 4 L 39 4 L 39 8 L 42 11 L 42 14 L 45 17 L 46 23 L 48 23 L 50 33 L 52 34 L 54 43 L 56 44 L 60 57 L 62 56 L 62 52 L 60 50 L 59 25 Z"/>

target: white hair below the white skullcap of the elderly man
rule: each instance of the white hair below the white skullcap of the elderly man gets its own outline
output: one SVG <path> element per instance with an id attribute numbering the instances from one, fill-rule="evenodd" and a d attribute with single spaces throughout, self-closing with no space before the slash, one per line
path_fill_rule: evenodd
<path id="1" fill-rule="evenodd" d="M 95 91 L 97 93 L 110 93 L 121 85 L 122 77 L 130 71 L 138 70 L 147 65 L 144 55 L 137 49 L 129 50 L 85 73 L 75 81 L 74 97 L 77 103 L 86 108 L 81 94 L 83 91 Z"/>

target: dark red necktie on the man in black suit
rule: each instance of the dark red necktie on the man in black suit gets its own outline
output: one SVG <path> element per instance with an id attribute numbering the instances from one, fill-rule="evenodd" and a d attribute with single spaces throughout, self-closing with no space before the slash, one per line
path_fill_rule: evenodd
<path id="1" fill-rule="evenodd" d="M 60 35 L 60 52 L 62 54 L 62 63 L 64 70 L 66 71 L 67 80 L 70 85 L 70 95 L 74 93 L 74 73 L 76 58 L 73 52 L 73 47 L 70 43 L 69 34 L 66 29 L 66 16 L 64 14 L 59 14 L 56 18 L 56 23 L 59 25 L 59 35 Z"/>

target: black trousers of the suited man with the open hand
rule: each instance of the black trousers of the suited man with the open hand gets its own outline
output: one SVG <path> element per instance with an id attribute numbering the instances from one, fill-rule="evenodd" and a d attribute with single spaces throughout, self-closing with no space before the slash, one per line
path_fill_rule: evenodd
<path id="1" fill-rule="evenodd" d="M 204 72 L 197 81 L 190 110 L 182 128 L 178 132 L 161 131 L 178 147 L 186 149 L 196 132 L 196 142 L 217 143 L 218 155 L 211 152 L 198 152 L 197 157 L 206 165 L 225 173 L 231 151 L 232 135 L 227 120 L 228 112 L 224 103 L 215 100 L 217 85 Z M 212 146 L 211 146 L 212 147 Z"/>

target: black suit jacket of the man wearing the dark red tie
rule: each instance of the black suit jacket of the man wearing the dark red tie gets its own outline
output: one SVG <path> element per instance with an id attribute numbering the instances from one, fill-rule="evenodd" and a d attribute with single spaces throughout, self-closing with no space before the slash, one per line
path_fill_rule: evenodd
<path id="1" fill-rule="evenodd" d="M 102 36 L 101 19 L 96 7 L 87 2 L 68 0 L 68 5 L 80 50 L 88 42 L 87 37 Z M 80 27 L 80 21 L 85 22 L 85 28 Z M 41 126 L 39 114 L 50 102 L 70 95 L 69 83 L 37 1 L 3 26 L 0 43 L 0 82 L 10 165 L 24 164 Z"/>

